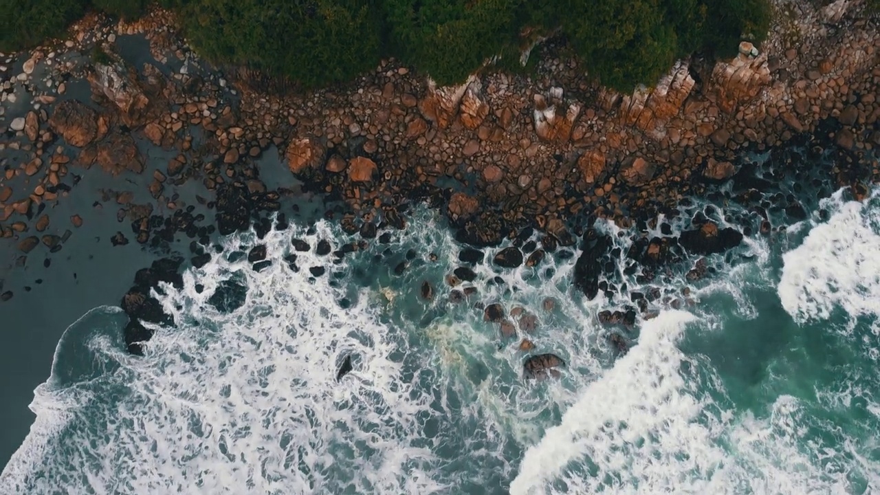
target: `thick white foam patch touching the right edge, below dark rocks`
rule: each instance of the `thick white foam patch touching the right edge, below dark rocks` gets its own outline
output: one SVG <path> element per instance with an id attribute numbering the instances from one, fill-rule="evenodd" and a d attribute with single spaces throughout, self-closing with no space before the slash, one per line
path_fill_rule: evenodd
<path id="1" fill-rule="evenodd" d="M 842 193 L 823 202 L 831 218 L 783 255 L 778 293 L 795 321 L 826 320 L 835 307 L 851 317 L 880 314 L 880 194 L 859 203 Z"/>

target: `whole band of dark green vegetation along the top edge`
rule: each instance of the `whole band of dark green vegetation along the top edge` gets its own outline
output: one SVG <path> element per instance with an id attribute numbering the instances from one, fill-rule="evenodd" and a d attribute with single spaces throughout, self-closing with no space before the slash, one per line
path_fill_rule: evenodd
<path id="1" fill-rule="evenodd" d="M 0 48 L 31 46 L 86 9 L 136 18 L 149 0 L 0 0 Z M 210 61 L 304 86 L 344 82 L 384 56 L 441 85 L 463 81 L 496 55 L 513 68 L 536 36 L 559 33 L 594 77 L 629 91 L 652 84 L 693 52 L 732 56 L 759 42 L 768 0 L 155 0 L 179 13 Z M 871 0 L 877 2 L 880 0 Z"/>

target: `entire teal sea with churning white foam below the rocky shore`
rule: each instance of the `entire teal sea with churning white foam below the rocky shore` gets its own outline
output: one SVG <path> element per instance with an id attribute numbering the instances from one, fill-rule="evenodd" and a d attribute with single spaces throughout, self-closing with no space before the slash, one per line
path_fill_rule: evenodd
<path id="1" fill-rule="evenodd" d="M 682 309 L 620 330 L 624 356 L 598 323 L 608 304 L 571 289 L 576 250 L 481 264 L 463 284 L 477 292 L 454 302 L 444 277 L 460 246 L 432 211 L 337 264 L 297 253 L 299 271 L 282 259 L 291 237 L 348 236 L 329 223 L 269 233 L 268 270 L 219 255 L 165 288 L 177 328 L 144 358 L 123 351 L 116 308 L 71 325 L 0 492 L 876 493 L 880 196 L 843 197 L 820 205 L 825 220 L 714 258 L 690 300 L 673 274 L 662 289 Z M 230 277 L 246 302 L 221 314 L 209 299 Z M 495 302 L 535 329 L 503 338 L 475 307 Z M 568 362 L 559 380 L 523 379 L 541 352 Z"/>

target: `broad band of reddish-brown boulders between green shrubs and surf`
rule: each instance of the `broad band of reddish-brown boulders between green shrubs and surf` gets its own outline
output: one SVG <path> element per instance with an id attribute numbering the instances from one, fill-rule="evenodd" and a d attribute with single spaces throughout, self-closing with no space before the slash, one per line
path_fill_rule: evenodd
<path id="1" fill-rule="evenodd" d="M 350 85 L 291 92 L 283 81 L 202 63 L 165 11 L 133 24 L 90 16 L 68 41 L 0 57 L 0 126 L 8 129 L 0 139 L 2 237 L 15 243 L 18 265 L 34 249 L 57 253 L 82 217 L 68 211 L 70 225 L 58 225 L 47 209 L 63 208 L 83 169 L 98 166 L 118 176 L 120 188 L 103 191 L 96 204 L 117 207 L 130 225 L 112 235 L 114 245 L 131 238 L 168 254 L 186 235 L 197 266 L 215 230 L 282 228 L 285 218 L 272 225 L 268 215 L 286 198 L 325 196 L 334 202 L 325 216 L 364 241 L 405 228 L 407 208 L 424 201 L 466 244 L 515 240 L 516 253 L 495 259 L 502 266 L 537 263 L 583 236 L 590 248 L 578 260 L 576 285 L 592 298 L 607 291 L 600 275 L 610 244 L 588 225 L 612 218 L 644 230 L 686 197 L 715 194 L 731 181 L 766 188 L 768 181 L 751 178 L 752 153 L 791 142 L 834 153 L 826 179 L 856 198 L 880 180 L 876 14 L 846 0 L 780 3 L 777 11 L 760 51 L 744 43 L 730 62 L 680 61 L 656 87 L 628 95 L 595 85 L 554 41 L 539 48 L 531 77 L 486 73 L 437 88 L 390 61 Z M 150 166 L 157 156 L 167 158 Z M 279 170 L 288 179 L 268 185 Z M 135 201 L 125 183 L 133 176 L 151 200 Z M 748 203 L 748 194 L 740 200 Z M 786 196 L 779 202 L 785 211 L 800 208 Z M 774 225 L 764 217 L 760 229 L 769 232 Z M 546 235 L 525 249 L 533 228 Z M 656 266 L 680 248 L 708 255 L 741 239 L 704 218 L 678 239 L 646 236 L 631 257 Z M 139 272 L 121 305 L 133 316 L 129 344 L 149 336 L 138 320 L 163 321 L 149 290 L 176 281 L 183 261 Z M 700 267 L 693 270 L 698 276 Z"/>

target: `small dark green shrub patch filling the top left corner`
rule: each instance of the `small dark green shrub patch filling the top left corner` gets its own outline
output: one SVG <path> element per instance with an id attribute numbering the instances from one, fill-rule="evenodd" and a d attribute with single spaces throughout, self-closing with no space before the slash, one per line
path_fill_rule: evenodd
<path id="1" fill-rule="evenodd" d="M 32 47 L 61 36 L 83 15 L 82 0 L 0 0 L 0 50 Z"/>

